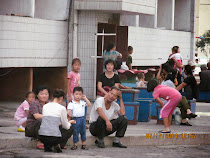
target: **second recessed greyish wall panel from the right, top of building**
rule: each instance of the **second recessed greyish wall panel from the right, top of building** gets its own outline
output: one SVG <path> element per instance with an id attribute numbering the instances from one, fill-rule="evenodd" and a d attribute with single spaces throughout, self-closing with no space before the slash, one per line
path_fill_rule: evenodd
<path id="1" fill-rule="evenodd" d="M 174 0 L 158 0 L 157 27 L 173 30 L 174 27 Z"/>

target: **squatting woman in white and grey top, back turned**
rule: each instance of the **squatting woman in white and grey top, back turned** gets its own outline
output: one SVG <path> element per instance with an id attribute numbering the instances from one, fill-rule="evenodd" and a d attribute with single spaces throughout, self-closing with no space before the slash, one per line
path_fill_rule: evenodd
<path id="1" fill-rule="evenodd" d="M 53 102 L 47 103 L 43 107 L 39 135 L 41 142 L 44 143 L 45 152 L 51 152 L 52 147 L 54 147 L 55 152 L 62 152 L 60 147 L 64 148 L 66 142 L 73 134 L 71 124 L 75 123 L 75 121 L 68 121 L 66 108 L 61 105 L 64 96 L 63 90 L 56 89 L 53 93 Z M 58 144 L 60 144 L 60 147 Z"/>

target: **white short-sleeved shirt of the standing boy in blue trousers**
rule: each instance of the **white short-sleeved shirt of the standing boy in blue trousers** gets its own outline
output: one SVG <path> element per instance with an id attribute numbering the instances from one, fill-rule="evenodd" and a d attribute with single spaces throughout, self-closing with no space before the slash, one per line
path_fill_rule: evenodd
<path id="1" fill-rule="evenodd" d="M 80 100 L 80 103 L 78 104 L 74 100 L 72 100 L 69 104 L 67 109 L 72 111 L 73 117 L 82 117 L 85 116 L 85 106 L 86 102 L 83 100 Z"/>

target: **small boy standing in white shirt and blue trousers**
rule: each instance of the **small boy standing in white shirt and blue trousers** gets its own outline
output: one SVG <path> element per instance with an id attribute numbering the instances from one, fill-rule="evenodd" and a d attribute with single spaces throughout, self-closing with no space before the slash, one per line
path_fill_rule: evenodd
<path id="1" fill-rule="evenodd" d="M 88 150 L 86 146 L 86 119 L 85 119 L 85 106 L 90 106 L 90 101 L 83 95 L 82 87 L 75 87 L 73 90 L 73 100 L 68 104 L 68 115 L 73 117 L 73 120 L 76 121 L 76 124 L 73 125 L 73 143 L 72 150 L 77 149 L 77 143 L 79 142 L 79 134 L 82 140 L 81 149 Z M 81 99 L 84 99 L 81 100 Z"/>

